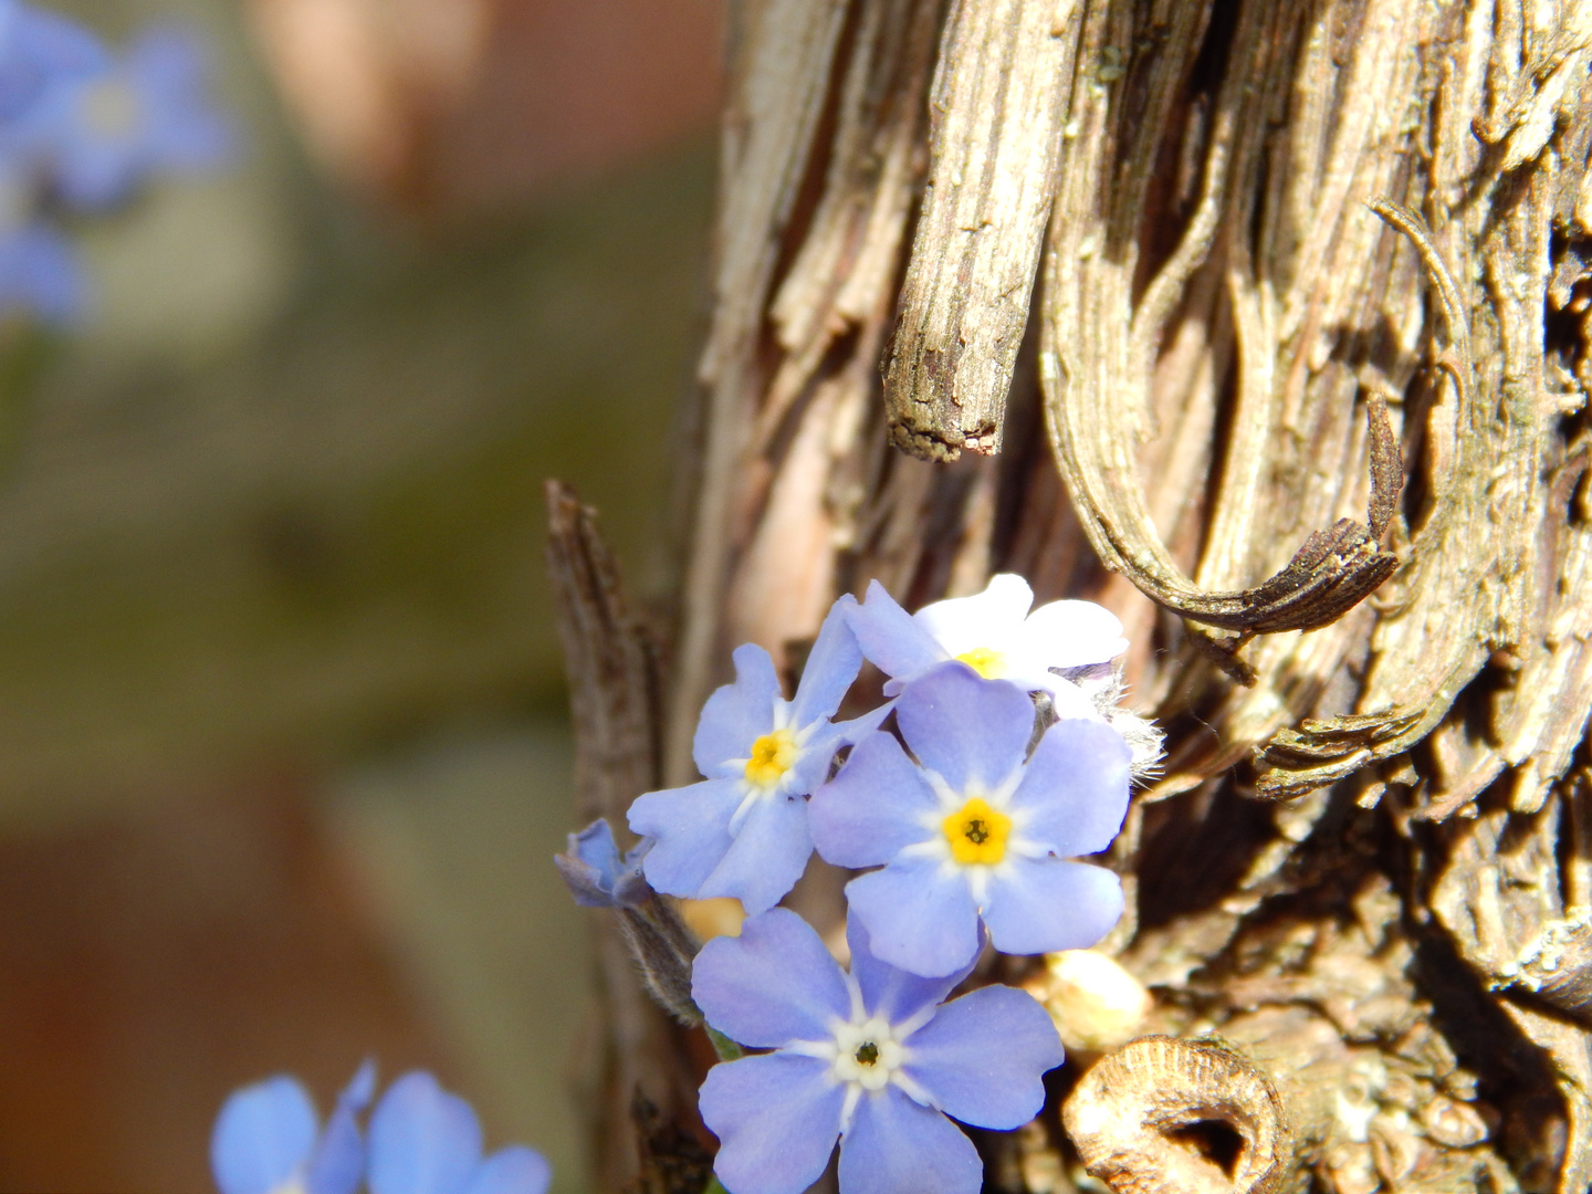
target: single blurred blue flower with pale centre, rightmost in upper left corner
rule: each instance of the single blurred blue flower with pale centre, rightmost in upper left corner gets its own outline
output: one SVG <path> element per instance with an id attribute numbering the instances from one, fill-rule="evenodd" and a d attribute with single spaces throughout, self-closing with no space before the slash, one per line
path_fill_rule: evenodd
<path id="1" fill-rule="evenodd" d="M 150 175 L 210 170 L 236 137 L 215 108 L 197 37 L 178 25 L 140 35 L 96 73 L 46 88 L 19 135 L 49 166 L 51 189 L 72 207 L 124 202 Z"/>

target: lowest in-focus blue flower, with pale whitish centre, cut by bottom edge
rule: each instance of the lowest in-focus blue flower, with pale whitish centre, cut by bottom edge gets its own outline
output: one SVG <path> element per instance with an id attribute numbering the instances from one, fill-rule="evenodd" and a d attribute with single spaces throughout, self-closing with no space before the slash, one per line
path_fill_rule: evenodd
<path id="1" fill-rule="evenodd" d="M 976 1194 L 982 1164 L 946 1116 L 1014 1129 L 1062 1063 L 1049 1014 L 1025 992 L 982 987 L 941 1005 L 966 970 L 922 979 L 879 962 L 853 919 L 852 973 L 794 912 L 715 938 L 693 995 L 726 1036 L 774 1052 L 715 1065 L 702 1121 L 731 1194 L 801 1194 L 841 1141 L 841 1194 Z"/>

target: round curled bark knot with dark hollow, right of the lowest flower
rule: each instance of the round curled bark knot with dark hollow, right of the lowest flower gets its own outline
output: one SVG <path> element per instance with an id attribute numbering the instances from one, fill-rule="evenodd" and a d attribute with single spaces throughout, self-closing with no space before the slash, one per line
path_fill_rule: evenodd
<path id="1" fill-rule="evenodd" d="M 1122 1046 L 1083 1076 L 1062 1122 L 1116 1194 L 1274 1194 L 1293 1162 L 1277 1087 L 1215 1040 Z"/>

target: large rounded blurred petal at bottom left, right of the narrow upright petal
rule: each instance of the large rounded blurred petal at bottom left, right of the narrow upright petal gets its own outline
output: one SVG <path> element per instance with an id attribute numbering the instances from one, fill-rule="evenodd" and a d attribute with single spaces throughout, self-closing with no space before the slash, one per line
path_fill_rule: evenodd
<path id="1" fill-rule="evenodd" d="M 481 1122 L 422 1071 L 387 1087 L 371 1113 L 371 1194 L 465 1194 L 481 1164 Z"/>

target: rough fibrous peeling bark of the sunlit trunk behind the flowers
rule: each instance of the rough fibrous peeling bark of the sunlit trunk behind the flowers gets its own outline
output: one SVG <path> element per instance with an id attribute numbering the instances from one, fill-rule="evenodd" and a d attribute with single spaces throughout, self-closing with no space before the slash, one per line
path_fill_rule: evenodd
<path id="1" fill-rule="evenodd" d="M 1102 600 L 1169 731 L 1102 947 L 1151 1028 L 1269 1075 L 1291 1122 L 1264 1188 L 1584 1191 L 1592 6 L 734 21 L 665 778 L 734 645 L 790 667 L 871 578 L 909 607 L 997 570 Z M 1005 194 L 1011 121 L 1051 139 L 1054 170 L 1044 145 L 1020 170 L 1043 232 L 1022 188 L 965 220 Z M 839 915 L 837 882 L 796 898 Z M 1223 1130 L 1235 1153 L 1175 1140 L 1261 1189 Z M 1054 1105 L 981 1146 L 992 1188 L 1078 1173 Z"/>

